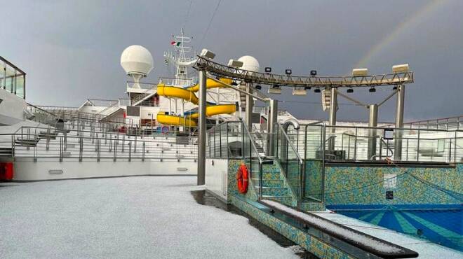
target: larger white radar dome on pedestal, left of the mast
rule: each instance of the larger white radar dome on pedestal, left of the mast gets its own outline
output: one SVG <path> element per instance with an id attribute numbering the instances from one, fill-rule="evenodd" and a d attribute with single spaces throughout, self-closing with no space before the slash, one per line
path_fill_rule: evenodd
<path id="1" fill-rule="evenodd" d="M 147 76 L 154 66 L 153 56 L 145 47 L 131 45 L 123 50 L 121 66 L 133 78 L 133 88 L 140 88 L 140 78 Z"/>

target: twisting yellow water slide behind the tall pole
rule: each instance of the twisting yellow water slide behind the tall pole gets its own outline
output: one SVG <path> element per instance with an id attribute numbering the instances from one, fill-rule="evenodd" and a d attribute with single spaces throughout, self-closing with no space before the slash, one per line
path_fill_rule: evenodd
<path id="1" fill-rule="evenodd" d="M 229 78 L 220 78 L 220 81 L 225 84 L 231 84 L 231 79 Z M 212 79 L 206 80 L 206 88 L 217 88 L 217 87 L 227 87 L 223 83 L 217 82 Z M 199 99 L 196 97 L 194 92 L 198 92 L 199 85 L 193 85 L 187 88 L 180 88 L 170 85 L 158 85 L 158 94 L 165 97 L 174 97 L 184 99 L 185 101 L 192 102 L 193 104 L 198 104 Z M 215 116 L 218 114 L 230 114 L 236 111 L 235 104 L 211 104 L 206 106 L 206 116 Z M 187 113 L 185 113 L 187 114 Z M 175 126 L 188 126 L 196 127 L 196 119 L 198 118 L 198 112 L 188 113 L 186 116 L 173 116 L 166 113 L 158 113 L 156 120 L 164 125 L 175 125 Z"/>

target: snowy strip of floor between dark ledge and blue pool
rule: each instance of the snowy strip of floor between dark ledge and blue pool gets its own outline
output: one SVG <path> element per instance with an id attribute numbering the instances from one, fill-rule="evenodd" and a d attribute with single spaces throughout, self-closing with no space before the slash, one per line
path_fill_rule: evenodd
<path id="1" fill-rule="evenodd" d="M 372 235 L 373 237 L 384 239 L 413 250 L 420 254 L 418 258 L 463 258 L 462 252 L 453 250 L 452 248 L 440 246 L 426 239 L 418 239 L 401 232 L 396 232 L 395 230 L 389 230 L 378 225 L 366 223 L 356 218 L 329 212 L 316 212 L 314 214 L 334 221 L 335 223 L 345 225 L 346 227 L 353 228 L 354 230 L 364 232 L 365 234 Z"/>

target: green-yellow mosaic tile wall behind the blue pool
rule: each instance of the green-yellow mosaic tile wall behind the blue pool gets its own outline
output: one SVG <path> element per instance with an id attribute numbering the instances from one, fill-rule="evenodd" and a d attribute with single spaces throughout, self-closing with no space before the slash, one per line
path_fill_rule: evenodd
<path id="1" fill-rule="evenodd" d="M 463 164 L 456 168 L 326 167 L 326 205 L 461 204 L 452 193 L 463 193 L 462 179 Z"/>

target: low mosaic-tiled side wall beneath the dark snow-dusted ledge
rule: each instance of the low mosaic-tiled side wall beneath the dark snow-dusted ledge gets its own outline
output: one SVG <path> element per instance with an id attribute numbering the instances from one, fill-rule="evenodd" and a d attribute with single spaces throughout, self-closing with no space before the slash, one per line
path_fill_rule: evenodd
<path id="1" fill-rule="evenodd" d="M 257 221 L 260 221 L 264 225 L 267 225 L 269 228 L 279 232 L 284 237 L 290 239 L 291 241 L 299 244 L 304 249 L 318 256 L 319 258 L 330 258 L 330 259 L 347 259 L 354 258 L 351 255 L 344 253 L 343 251 L 338 250 L 337 248 L 330 246 L 329 244 L 324 243 L 323 241 L 316 239 L 315 237 L 302 232 L 301 230 L 289 225 L 279 218 L 275 218 L 257 207 L 245 202 L 237 197 L 231 196 L 231 204 L 241 209 L 241 211 L 246 212 L 246 214 L 252 216 Z"/>

